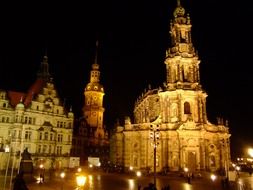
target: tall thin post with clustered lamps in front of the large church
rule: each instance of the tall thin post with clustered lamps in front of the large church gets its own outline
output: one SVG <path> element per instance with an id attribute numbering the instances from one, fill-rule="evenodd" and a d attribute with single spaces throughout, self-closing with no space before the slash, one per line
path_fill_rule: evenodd
<path id="1" fill-rule="evenodd" d="M 160 126 L 159 125 L 150 125 L 150 139 L 153 140 L 151 143 L 154 147 L 154 187 L 156 188 L 156 148 L 159 144 L 159 130 Z"/>

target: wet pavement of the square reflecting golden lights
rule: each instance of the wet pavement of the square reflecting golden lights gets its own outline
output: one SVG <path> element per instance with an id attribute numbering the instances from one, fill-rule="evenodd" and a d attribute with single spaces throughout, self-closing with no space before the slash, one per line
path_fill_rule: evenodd
<path id="1" fill-rule="evenodd" d="M 137 190 L 138 184 L 141 189 L 154 182 L 154 177 L 118 174 L 118 173 L 103 173 L 103 172 L 84 172 L 87 176 L 83 190 Z M 36 177 L 36 176 L 35 176 Z M 27 180 L 28 181 L 28 180 Z M 0 176 L 0 189 L 3 190 L 4 176 Z M 7 178 L 6 190 L 9 190 L 9 177 Z M 222 188 L 221 179 L 211 180 L 210 174 L 206 174 L 201 178 L 193 178 L 188 183 L 184 177 L 179 177 L 175 174 L 167 176 L 157 176 L 157 190 L 162 187 L 170 186 L 170 190 L 224 190 Z M 45 182 L 39 184 L 36 181 L 27 182 L 29 190 L 77 190 L 75 173 L 66 172 L 64 178 L 60 177 L 60 173 L 53 176 L 46 175 Z M 80 188 L 79 188 L 80 189 Z M 228 188 L 226 188 L 228 189 Z M 242 173 L 236 184 L 230 185 L 230 190 L 253 190 L 253 176 L 248 173 Z"/>

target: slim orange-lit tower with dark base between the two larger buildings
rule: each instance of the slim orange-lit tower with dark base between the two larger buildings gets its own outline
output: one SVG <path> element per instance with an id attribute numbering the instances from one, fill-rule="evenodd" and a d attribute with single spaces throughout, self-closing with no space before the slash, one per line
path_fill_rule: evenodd
<path id="1" fill-rule="evenodd" d="M 98 42 L 96 43 L 95 62 L 90 71 L 90 81 L 84 89 L 83 116 L 77 121 L 77 129 L 73 137 L 75 156 L 80 156 L 81 164 L 88 157 L 99 157 L 100 161 L 109 158 L 109 137 L 104 125 L 103 97 L 104 87 L 100 84 L 99 64 L 97 63 Z"/>

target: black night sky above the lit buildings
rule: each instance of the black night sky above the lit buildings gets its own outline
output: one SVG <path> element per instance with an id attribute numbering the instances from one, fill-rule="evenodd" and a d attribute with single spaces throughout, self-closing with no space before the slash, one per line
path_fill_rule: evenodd
<path id="1" fill-rule="evenodd" d="M 131 116 L 144 89 L 165 81 L 163 60 L 176 0 L 92 2 L 2 4 L 0 88 L 26 91 L 47 49 L 56 88 L 78 116 L 98 39 L 105 122 L 111 126 L 116 118 Z M 181 4 L 192 20 L 209 120 L 228 119 L 232 150 L 243 152 L 253 146 L 250 6 L 229 0 Z"/>

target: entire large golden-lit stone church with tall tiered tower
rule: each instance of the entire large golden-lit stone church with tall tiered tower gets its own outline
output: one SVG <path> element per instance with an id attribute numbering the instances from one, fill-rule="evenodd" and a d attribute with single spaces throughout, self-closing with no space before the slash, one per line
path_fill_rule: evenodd
<path id="1" fill-rule="evenodd" d="M 125 168 L 157 172 L 227 171 L 229 128 L 208 121 L 207 94 L 200 84 L 199 57 L 191 39 L 191 20 L 180 1 L 170 22 L 166 83 L 145 91 L 135 103 L 134 122 L 125 118 L 110 142 L 110 158 Z"/>

